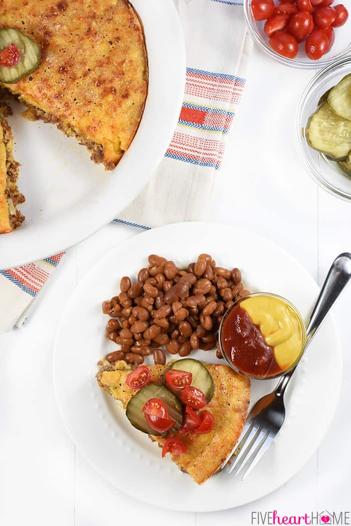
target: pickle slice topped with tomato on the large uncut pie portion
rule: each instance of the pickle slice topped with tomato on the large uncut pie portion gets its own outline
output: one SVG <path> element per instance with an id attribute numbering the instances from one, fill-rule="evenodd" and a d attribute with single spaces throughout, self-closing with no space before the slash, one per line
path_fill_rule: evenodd
<path id="1" fill-rule="evenodd" d="M 18 29 L 0 29 L 0 49 L 14 44 L 21 60 L 15 66 L 0 66 L 0 82 L 13 84 L 32 73 L 40 64 L 41 50 L 38 44 Z"/>

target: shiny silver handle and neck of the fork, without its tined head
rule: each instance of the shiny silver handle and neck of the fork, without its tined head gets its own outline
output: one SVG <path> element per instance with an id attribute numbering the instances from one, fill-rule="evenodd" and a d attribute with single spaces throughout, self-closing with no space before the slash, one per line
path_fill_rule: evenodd
<path id="1" fill-rule="evenodd" d="M 319 292 L 316 304 L 310 315 L 306 329 L 306 345 L 304 352 L 315 336 L 317 330 L 325 320 L 329 310 L 334 305 L 336 299 L 340 296 L 348 281 L 351 278 L 351 254 L 343 252 L 334 261 L 325 278 L 322 289 Z M 293 376 L 297 365 L 291 371 L 283 375 L 275 389 L 275 395 L 283 397 L 284 391 Z"/>

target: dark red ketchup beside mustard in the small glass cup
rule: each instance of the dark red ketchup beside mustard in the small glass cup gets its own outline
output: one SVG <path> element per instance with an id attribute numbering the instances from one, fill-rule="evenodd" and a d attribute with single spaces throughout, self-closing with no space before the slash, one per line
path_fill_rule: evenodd
<path id="1" fill-rule="evenodd" d="M 222 328 L 222 348 L 235 367 L 249 376 L 275 376 L 282 372 L 259 329 L 240 304 L 229 312 Z"/>

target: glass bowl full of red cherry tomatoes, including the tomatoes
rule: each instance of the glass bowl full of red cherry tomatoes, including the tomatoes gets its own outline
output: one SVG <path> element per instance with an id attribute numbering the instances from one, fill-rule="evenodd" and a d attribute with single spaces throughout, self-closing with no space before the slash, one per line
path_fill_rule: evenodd
<path id="1" fill-rule="evenodd" d="M 245 0 L 256 44 L 283 64 L 326 66 L 351 52 L 351 0 Z"/>

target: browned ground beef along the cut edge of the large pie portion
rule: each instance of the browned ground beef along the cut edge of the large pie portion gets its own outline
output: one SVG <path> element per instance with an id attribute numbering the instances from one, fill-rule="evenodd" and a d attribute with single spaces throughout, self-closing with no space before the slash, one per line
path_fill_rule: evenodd
<path id="1" fill-rule="evenodd" d="M 65 135 L 67 135 L 68 137 L 74 136 L 78 140 L 79 144 L 85 146 L 91 154 L 91 159 L 92 161 L 94 161 L 94 163 L 103 163 L 104 148 L 101 144 L 94 143 L 92 140 L 88 140 L 85 137 L 82 137 L 82 135 L 80 135 L 73 128 L 63 125 L 62 121 L 59 120 L 57 117 L 54 117 L 50 113 L 44 112 L 43 110 L 38 109 L 35 106 L 27 104 L 25 100 L 21 100 L 21 97 L 19 97 L 19 102 L 22 102 L 27 106 L 27 108 L 29 109 L 27 115 L 30 115 L 30 118 L 34 120 L 43 120 L 44 123 L 55 124 L 59 130 L 63 131 Z M 115 167 L 116 163 L 110 162 L 106 165 L 106 170 L 113 170 Z"/>

